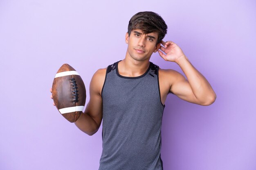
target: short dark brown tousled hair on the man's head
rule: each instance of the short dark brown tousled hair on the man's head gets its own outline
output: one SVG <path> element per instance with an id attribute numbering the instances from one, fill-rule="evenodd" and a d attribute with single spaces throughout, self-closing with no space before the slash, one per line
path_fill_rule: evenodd
<path id="1" fill-rule="evenodd" d="M 167 25 L 163 18 L 151 11 L 138 12 L 133 15 L 128 24 L 128 34 L 134 29 L 140 29 L 144 34 L 157 32 L 157 43 L 160 43 L 167 33 Z"/>

